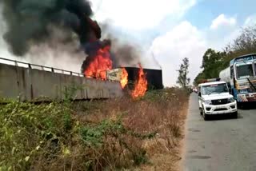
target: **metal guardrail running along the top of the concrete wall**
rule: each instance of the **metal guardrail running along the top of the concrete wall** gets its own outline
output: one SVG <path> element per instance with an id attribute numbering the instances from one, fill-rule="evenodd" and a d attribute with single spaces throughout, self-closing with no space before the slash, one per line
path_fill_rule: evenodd
<path id="1" fill-rule="evenodd" d="M 84 77 L 83 74 L 76 73 L 76 72 L 73 72 L 73 71 L 70 71 L 70 70 L 62 70 L 62 69 L 58 69 L 58 68 L 54 68 L 54 67 L 50 67 L 50 66 L 39 66 L 39 65 L 36 65 L 36 64 L 30 64 L 30 63 L 27 63 L 27 62 L 19 62 L 19 61 L 16 61 L 16 60 L 6 59 L 6 58 L 0 58 L 0 60 L 6 61 L 6 62 L 14 62 L 15 66 L 18 66 L 18 64 L 23 64 L 23 65 L 27 65 L 27 67 L 30 68 L 30 69 L 34 69 L 32 66 L 36 66 L 36 67 L 39 67 L 39 70 L 50 71 L 52 73 L 58 73 L 56 71 L 60 71 L 62 74 L 70 74 L 70 75 L 75 75 L 75 76 L 79 76 L 79 77 Z M 46 69 L 48 69 L 48 70 L 46 70 Z M 37 68 L 37 70 L 38 70 L 38 68 Z"/>

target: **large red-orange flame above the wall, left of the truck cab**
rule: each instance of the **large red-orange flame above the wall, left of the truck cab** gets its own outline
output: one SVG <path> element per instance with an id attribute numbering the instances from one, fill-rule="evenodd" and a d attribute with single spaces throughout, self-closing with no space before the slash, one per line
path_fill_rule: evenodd
<path id="1" fill-rule="evenodd" d="M 106 80 L 106 71 L 112 70 L 110 46 L 105 46 L 97 51 L 96 57 L 85 70 L 86 78 Z"/>

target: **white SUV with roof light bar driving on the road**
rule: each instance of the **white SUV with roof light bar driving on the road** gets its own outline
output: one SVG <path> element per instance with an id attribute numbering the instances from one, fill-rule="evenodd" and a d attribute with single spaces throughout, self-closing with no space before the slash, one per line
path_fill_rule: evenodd
<path id="1" fill-rule="evenodd" d="M 210 115 L 230 113 L 238 117 L 237 101 L 230 94 L 226 82 L 206 82 L 198 85 L 198 102 L 204 120 Z"/>

